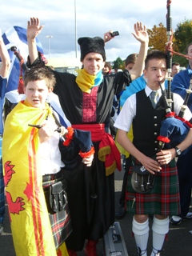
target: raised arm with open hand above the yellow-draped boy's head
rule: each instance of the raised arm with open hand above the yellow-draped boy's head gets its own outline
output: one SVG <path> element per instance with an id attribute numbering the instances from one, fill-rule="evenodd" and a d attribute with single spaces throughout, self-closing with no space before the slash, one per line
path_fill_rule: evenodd
<path id="1" fill-rule="evenodd" d="M 40 26 L 40 21 L 38 18 L 30 18 L 30 21 L 27 22 L 26 37 L 29 47 L 30 64 L 33 64 L 36 58 L 38 58 L 35 38 L 41 33 L 43 27 L 44 26 Z"/>

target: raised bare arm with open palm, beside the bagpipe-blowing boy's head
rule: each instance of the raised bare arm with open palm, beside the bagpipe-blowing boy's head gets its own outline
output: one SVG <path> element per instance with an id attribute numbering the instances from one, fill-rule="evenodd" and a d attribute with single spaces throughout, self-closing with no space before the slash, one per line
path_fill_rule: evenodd
<path id="1" fill-rule="evenodd" d="M 138 58 L 136 59 L 133 69 L 130 70 L 131 78 L 134 80 L 142 75 L 148 50 L 149 36 L 146 31 L 146 26 L 143 26 L 142 22 L 137 22 L 134 24 L 134 33 L 132 34 L 134 35 L 134 38 L 141 42 Z"/>

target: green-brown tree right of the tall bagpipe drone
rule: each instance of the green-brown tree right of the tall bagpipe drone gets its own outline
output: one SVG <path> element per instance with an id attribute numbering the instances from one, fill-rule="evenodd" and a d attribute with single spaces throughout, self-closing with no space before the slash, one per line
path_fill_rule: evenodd
<path id="1" fill-rule="evenodd" d="M 186 46 L 192 42 L 192 20 L 186 19 L 179 22 L 174 32 L 173 50 L 186 55 Z M 186 58 L 174 54 L 174 62 L 179 62 L 181 66 L 187 66 Z"/>

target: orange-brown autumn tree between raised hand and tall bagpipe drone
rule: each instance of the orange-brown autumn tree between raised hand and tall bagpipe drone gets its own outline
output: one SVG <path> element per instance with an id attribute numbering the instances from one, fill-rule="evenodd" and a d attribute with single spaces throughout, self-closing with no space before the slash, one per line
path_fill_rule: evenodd
<path id="1" fill-rule="evenodd" d="M 149 34 L 149 50 L 166 50 L 166 27 L 159 23 L 158 26 L 154 25 L 152 30 L 147 30 Z"/>

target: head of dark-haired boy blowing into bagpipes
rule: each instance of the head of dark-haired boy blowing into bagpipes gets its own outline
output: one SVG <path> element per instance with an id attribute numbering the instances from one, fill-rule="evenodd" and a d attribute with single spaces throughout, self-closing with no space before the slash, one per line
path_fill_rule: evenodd
<path id="1" fill-rule="evenodd" d="M 147 85 L 150 89 L 158 90 L 160 87 L 159 82 L 162 83 L 166 79 L 166 61 L 156 58 L 151 59 L 143 73 L 147 78 Z"/>

